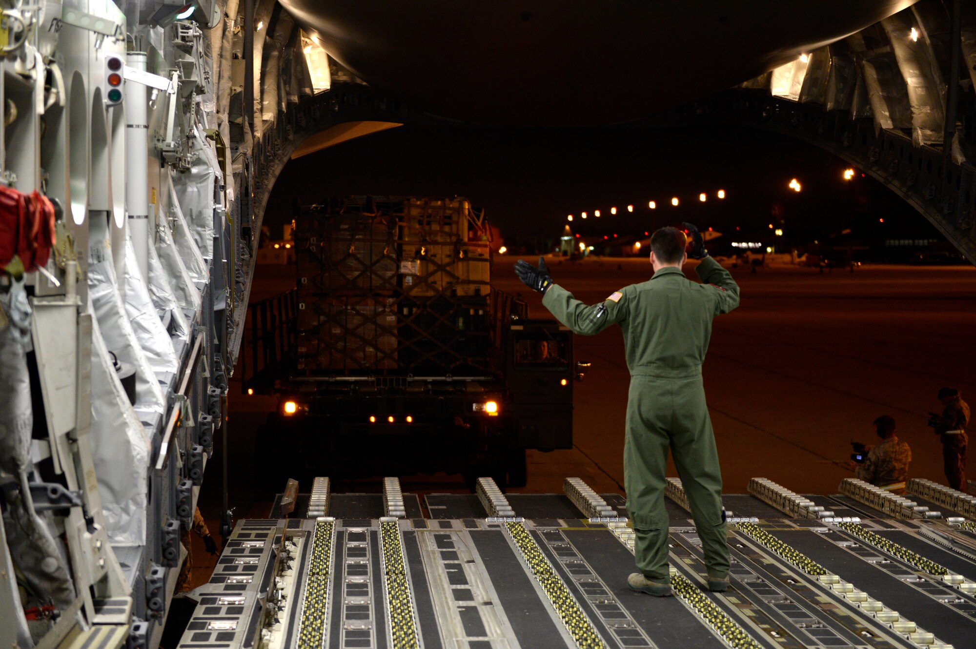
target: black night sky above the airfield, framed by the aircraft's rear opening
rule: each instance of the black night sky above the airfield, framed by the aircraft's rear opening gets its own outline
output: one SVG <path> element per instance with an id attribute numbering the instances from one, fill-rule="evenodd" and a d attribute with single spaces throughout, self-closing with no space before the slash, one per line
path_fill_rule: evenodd
<path id="1" fill-rule="evenodd" d="M 770 223 L 793 246 L 844 229 L 869 245 L 892 237 L 943 240 L 880 183 L 860 171 L 843 180 L 845 167 L 810 144 L 749 129 L 404 126 L 290 162 L 265 223 L 279 236 L 293 197 L 310 204 L 347 194 L 462 195 L 487 210 L 507 244 L 554 239 L 570 213 L 574 232 L 584 235 L 640 236 L 690 220 L 726 233 L 726 241 L 767 237 Z M 793 177 L 799 193 L 788 187 Z M 715 198 L 718 189 L 727 192 L 725 200 Z M 700 192 L 709 194 L 704 204 Z M 650 200 L 657 210 L 648 209 Z M 593 210 L 601 210 L 599 219 Z"/>

